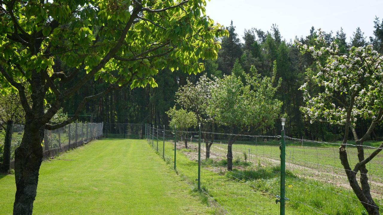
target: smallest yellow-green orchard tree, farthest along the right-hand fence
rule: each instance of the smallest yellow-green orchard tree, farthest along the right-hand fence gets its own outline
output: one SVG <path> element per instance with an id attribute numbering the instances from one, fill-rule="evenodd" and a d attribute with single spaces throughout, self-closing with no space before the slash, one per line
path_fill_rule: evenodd
<path id="1" fill-rule="evenodd" d="M 166 112 L 166 114 L 169 116 L 170 120 L 170 127 L 174 128 L 176 127 L 177 130 L 181 132 L 185 132 L 185 148 L 188 148 L 188 129 L 190 127 L 197 125 L 197 117 L 195 113 L 191 111 L 187 111 L 185 109 L 179 109 L 176 110 L 175 107 L 170 109 Z M 182 133 L 181 133 L 182 135 Z"/>

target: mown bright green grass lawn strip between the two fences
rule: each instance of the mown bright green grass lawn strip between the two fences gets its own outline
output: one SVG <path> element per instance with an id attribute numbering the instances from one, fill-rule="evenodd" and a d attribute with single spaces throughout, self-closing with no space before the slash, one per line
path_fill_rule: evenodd
<path id="1" fill-rule="evenodd" d="M 0 175 L 0 213 L 11 214 L 15 177 Z M 99 140 L 44 161 L 34 214 L 212 214 L 146 140 Z"/>

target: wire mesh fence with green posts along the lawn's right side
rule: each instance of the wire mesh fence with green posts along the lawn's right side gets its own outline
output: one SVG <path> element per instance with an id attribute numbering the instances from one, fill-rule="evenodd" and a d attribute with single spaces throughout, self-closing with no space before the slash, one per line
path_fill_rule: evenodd
<path id="1" fill-rule="evenodd" d="M 281 136 L 214 133 L 201 135 L 200 191 L 224 214 L 280 214 Z M 198 184 L 198 132 L 146 128 L 149 145 L 193 186 Z M 235 139 L 232 155 L 228 142 Z M 341 143 L 285 137 L 286 214 L 368 214 L 354 194 L 339 160 Z M 357 146 L 347 144 L 351 165 L 358 162 Z M 378 149 L 363 145 L 366 156 Z M 228 171 L 228 158 L 233 169 Z M 367 164 L 371 193 L 383 213 L 383 155 Z M 360 174 L 360 173 L 358 173 Z M 369 204 L 369 203 L 367 203 Z"/>

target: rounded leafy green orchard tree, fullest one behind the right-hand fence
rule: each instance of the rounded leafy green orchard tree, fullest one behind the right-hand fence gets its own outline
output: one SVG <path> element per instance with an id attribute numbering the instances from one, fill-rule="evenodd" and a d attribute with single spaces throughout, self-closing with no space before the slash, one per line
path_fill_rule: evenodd
<path id="1" fill-rule="evenodd" d="M 275 82 L 276 63 L 272 77 L 261 77 L 253 66 L 251 75 L 231 74 L 219 80 L 211 90 L 208 114 L 222 125 L 229 127 L 228 170 L 232 170 L 232 145 L 239 135 L 250 134 L 257 129 L 274 124 L 282 102 L 275 99 L 275 93 L 282 79 Z"/>

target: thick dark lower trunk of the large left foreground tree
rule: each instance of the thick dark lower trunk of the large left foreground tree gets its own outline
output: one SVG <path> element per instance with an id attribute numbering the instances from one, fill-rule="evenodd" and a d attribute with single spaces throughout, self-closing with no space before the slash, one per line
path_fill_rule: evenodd
<path id="1" fill-rule="evenodd" d="M 20 146 L 15 150 L 16 195 L 13 215 L 31 215 L 36 197 L 39 169 L 43 161 L 44 126 L 25 124 Z"/>

